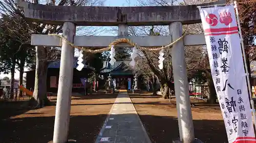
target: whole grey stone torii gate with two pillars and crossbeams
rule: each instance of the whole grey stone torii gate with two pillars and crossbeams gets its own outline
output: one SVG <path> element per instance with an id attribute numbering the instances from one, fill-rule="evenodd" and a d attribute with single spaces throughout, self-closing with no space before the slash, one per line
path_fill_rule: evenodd
<path id="1" fill-rule="evenodd" d="M 35 22 L 63 24 L 62 36 L 81 47 L 107 47 L 117 38 L 129 38 L 143 47 L 161 47 L 182 36 L 182 24 L 200 23 L 197 6 L 224 4 L 226 1 L 190 6 L 160 7 L 72 7 L 46 6 L 17 0 L 24 8 L 25 16 Z M 115 36 L 75 36 L 75 26 L 118 26 Z M 127 26 L 169 25 L 170 36 L 127 37 Z M 87 42 L 88 41 L 88 42 Z M 54 123 L 54 143 L 67 141 L 73 78 L 74 49 L 56 36 L 32 35 L 31 45 L 61 46 L 61 64 Z M 184 143 L 194 141 L 190 98 L 184 46 L 205 45 L 203 34 L 187 35 L 172 48 L 172 63 L 178 111 L 180 139 Z M 123 46 L 123 45 L 121 45 Z"/>

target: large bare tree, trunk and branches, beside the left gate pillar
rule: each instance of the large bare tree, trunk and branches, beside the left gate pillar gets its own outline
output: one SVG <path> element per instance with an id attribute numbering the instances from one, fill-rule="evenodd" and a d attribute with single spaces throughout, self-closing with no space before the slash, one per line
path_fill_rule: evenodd
<path id="1" fill-rule="evenodd" d="M 37 0 L 33 1 L 33 3 L 39 3 Z M 46 5 L 58 5 L 58 6 L 102 6 L 104 0 L 78 0 L 78 1 L 67 1 L 60 0 L 55 2 L 46 1 Z M 10 27 L 10 31 L 13 33 L 18 33 L 19 31 L 25 31 L 24 26 L 18 26 L 25 24 L 26 31 L 29 33 L 18 33 L 19 35 L 23 35 L 26 37 L 27 41 L 22 41 L 24 43 L 30 43 L 31 34 L 52 34 L 52 33 L 61 33 L 62 25 L 49 25 L 42 23 L 35 23 L 26 21 L 24 16 L 23 9 L 17 7 L 17 3 L 14 0 L 3 0 L 0 2 L 0 12 L 2 15 L 8 16 L 10 21 L 13 21 L 17 24 L 16 28 Z M 22 19 L 23 22 L 20 22 Z M 81 31 L 82 34 L 94 34 L 97 32 L 95 27 L 78 27 L 78 30 Z M 35 87 L 33 98 L 31 100 L 32 106 L 34 107 L 42 107 L 47 105 L 47 67 L 48 64 L 52 61 L 58 60 L 60 58 L 60 48 L 58 47 L 44 47 L 44 46 L 36 46 L 36 75 L 35 75 Z"/>

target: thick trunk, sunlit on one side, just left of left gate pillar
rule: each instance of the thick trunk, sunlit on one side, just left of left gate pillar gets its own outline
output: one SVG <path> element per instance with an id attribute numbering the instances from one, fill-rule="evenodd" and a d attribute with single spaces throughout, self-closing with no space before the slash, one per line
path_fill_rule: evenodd
<path id="1" fill-rule="evenodd" d="M 47 98 L 47 59 L 45 47 L 36 46 L 35 87 L 31 106 L 40 108 L 49 105 Z"/>

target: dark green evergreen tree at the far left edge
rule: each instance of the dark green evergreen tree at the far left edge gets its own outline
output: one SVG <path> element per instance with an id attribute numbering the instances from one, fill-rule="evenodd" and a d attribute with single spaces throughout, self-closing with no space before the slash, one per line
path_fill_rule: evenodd
<path id="1" fill-rule="evenodd" d="M 19 84 L 23 84 L 23 73 L 25 63 L 29 64 L 34 61 L 31 57 L 33 47 L 27 43 L 28 39 L 24 35 L 28 34 L 27 25 L 23 23 L 23 19 L 19 19 L 20 23 L 12 20 L 12 16 L 2 15 L 0 28 L 0 72 L 8 74 L 11 72 L 11 89 L 14 84 L 15 67 L 19 70 Z M 19 28 L 17 28 L 19 27 Z M 11 90 L 11 98 L 13 96 Z M 22 94 L 22 92 L 20 92 Z"/>

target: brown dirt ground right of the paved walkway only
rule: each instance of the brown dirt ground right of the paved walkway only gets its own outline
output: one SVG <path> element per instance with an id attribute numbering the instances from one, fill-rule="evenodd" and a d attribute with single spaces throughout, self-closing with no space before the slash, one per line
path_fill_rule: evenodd
<path id="1" fill-rule="evenodd" d="M 175 101 L 159 96 L 130 94 L 152 142 L 166 143 L 178 138 L 178 120 Z M 219 104 L 197 103 L 192 107 L 195 137 L 203 142 L 227 142 L 225 125 Z"/>

